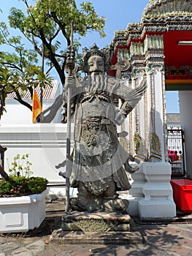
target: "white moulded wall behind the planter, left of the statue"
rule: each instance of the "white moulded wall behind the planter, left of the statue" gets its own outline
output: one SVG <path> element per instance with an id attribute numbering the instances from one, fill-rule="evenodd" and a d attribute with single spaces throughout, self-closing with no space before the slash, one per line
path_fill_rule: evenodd
<path id="1" fill-rule="evenodd" d="M 5 171 L 17 155 L 29 154 L 33 176 L 42 176 L 49 181 L 50 191 L 65 194 L 65 179 L 58 176 L 64 167 L 55 165 L 66 159 L 66 124 L 15 124 L 1 125 L 1 146 L 7 147 L 4 156 Z M 63 187 L 60 187 L 63 186 Z"/>

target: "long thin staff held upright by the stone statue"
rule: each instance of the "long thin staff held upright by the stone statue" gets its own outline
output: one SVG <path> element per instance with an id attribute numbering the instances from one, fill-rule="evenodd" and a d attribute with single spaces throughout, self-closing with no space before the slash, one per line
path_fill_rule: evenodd
<path id="1" fill-rule="evenodd" d="M 71 45 L 69 46 L 69 51 L 67 53 L 66 59 L 66 71 L 68 76 L 72 76 L 72 71 L 74 69 L 74 56 L 72 55 L 73 51 L 73 22 L 71 23 Z M 67 130 L 66 130 L 66 212 L 69 211 L 69 176 L 71 173 L 70 167 L 70 151 L 71 151 L 71 105 L 72 105 L 72 88 L 67 85 Z"/>

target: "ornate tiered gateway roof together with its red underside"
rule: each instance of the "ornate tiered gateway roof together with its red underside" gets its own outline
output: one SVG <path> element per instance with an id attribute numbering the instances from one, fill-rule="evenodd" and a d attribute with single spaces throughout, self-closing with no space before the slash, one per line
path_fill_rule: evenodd
<path id="1" fill-rule="evenodd" d="M 147 37 L 163 38 L 164 66 L 170 78 L 190 80 L 192 59 L 192 0 L 149 0 L 139 23 L 128 23 L 125 30 L 115 31 L 112 47 L 116 56 L 127 52 L 128 58 L 137 52 L 142 56 L 142 45 Z M 137 50 L 135 45 L 137 42 Z M 146 41 L 147 42 L 147 41 Z M 140 46 L 139 46 L 140 45 Z M 158 47 L 158 44 L 155 46 Z M 139 50 L 140 49 L 140 50 Z M 185 67 L 185 75 L 182 75 Z M 171 71 L 174 69 L 174 71 Z M 181 72 L 179 71 L 181 69 Z M 168 82 L 167 82 L 168 83 Z"/>

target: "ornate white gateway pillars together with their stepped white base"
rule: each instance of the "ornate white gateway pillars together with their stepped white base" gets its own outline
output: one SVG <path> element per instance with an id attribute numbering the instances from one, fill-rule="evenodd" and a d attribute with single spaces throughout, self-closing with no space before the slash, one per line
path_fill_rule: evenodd
<path id="1" fill-rule="evenodd" d="M 176 207 L 170 184 L 171 165 L 166 162 L 163 36 L 147 35 L 144 43 L 131 42 L 128 57 L 131 87 L 147 78 L 147 91 L 123 127 L 129 133 L 129 152 L 141 161 L 139 170 L 131 175 L 128 214 L 140 219 L 172 218 Z"/>

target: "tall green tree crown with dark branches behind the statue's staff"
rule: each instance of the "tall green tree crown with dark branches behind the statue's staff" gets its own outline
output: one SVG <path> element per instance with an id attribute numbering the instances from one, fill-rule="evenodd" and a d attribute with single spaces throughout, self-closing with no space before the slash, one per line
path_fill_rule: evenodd
<path id="1" fill-rule="evenodd" d="M 85 37 L 90 30 L 98 31 L 101 37 L 105 37 L 105 18 L 97 15 L 90 1 L 82 2 L 79 9 L 74 0 L 20 1 L 25 5 L 26 12 L 12 7 L 8 17 L 9 26 L 12 29 L 19 29 L 23 37 L 31 42 L 33 49 L 27 50 L 21 43 L 22 37 L 10 36 L 6 24 L 1 23 L 0 44 L 7 44 L 15 51 L 14 53 L 1 52 L 0 64 L 16 70 L 17 74 L 22 73 L 20 77 L 26 78 L 26 69 L 37 66 L 38 54 L 42 56 L 42 59 L 47 60 L 47 72 L 54 67 L 64 85 L 66 49 L 71 45 L 72 40 L 71 23 L 74 24 L 73 31 L 74 37 L 76 37 L 74 46 L 78 50 L 80 37 Z M 33 76 L 32 78 L 34 81 Z M 29 89 L 30 86 L 24 88 Z"/>

